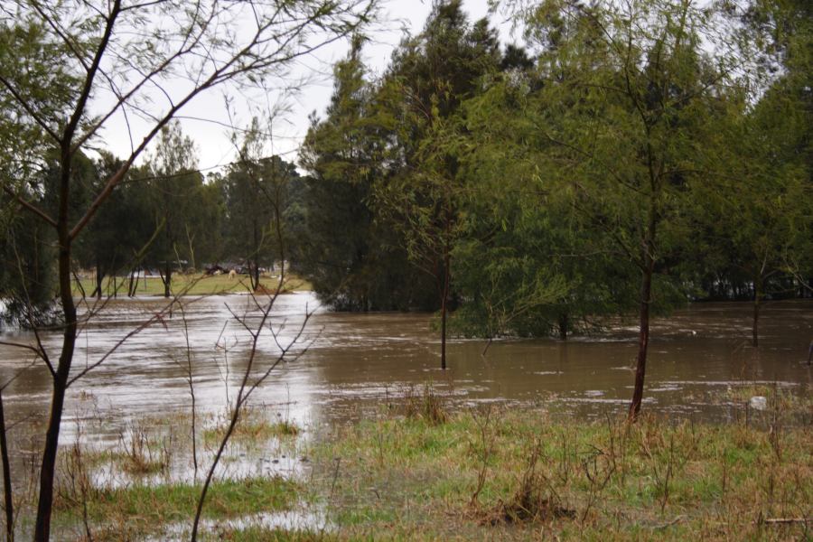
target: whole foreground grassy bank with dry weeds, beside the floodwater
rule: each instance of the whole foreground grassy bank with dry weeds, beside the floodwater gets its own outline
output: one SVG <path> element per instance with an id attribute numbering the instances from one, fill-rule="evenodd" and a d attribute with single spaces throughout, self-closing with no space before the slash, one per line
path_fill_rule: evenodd
<path id="1" fill-rule="evenodd" d="M 249 416 L 236 446 L 309 466 L 290 479 L 219 481 L 207 532 L 233 540 L 809 539 L 811 402 L 799 399 L 793 412 L 787 405 L 771 397 L 774 410 L 730 425 L 654 416 L 629 425 L 498 406 L 450 413 L 425 393 L 318 438 Z M 799 416 L 804 425 L 788 423 Z M 217 440 L 210 433 L 206 445 Z M 200 491 L 170 481 L 89 487 L 61 499 L 57 517 L 73 532 L 87 517 L 94 539 L 112 540 L 183 539 Z M 262 520 L 281 512 L 319 519 L 289 530 Z"/>

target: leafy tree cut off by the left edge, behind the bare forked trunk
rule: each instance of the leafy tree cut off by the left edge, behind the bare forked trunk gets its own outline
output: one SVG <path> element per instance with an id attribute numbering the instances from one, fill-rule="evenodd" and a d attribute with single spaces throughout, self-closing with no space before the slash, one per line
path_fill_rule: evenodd
<path id="1" fill-rule="evenodd" d="M 78 79 L 60 61 L 64 46 L 48 40 L 48 33 L 41 22 L 0 16 L 0 77 L 17 78 L 19 97 L 52 113 L 70 102 Z M 46 130 L 0 83 L 0 250 L 6 263 L 0 294 L 3 316 L 23 325 L 51 313 L 53 232 L 27 211 L 44 205 L 45 177 L 54 162 Z"/>

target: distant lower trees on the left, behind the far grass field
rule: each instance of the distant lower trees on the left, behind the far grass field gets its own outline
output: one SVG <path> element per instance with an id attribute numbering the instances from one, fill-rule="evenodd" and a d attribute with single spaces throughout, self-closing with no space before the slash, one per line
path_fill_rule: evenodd
<path id="1" fill-rule="evenodd" d="M 238 155 L 246 155 L 260 133 L 257 122 L 249 126 Z M 79 154 L 72 171 L 76 209 L 88 205 L 121 164 L 107 151 L 92 159 Z M 46 157 L 29 184 L 28 201 L 43 210 L 55 210 L 58 172 L 55 157 Z M 278 201 L 282 214 L 293 212 L 301 183 L 294 164 L 278 156 L 247 156 L 221 172 L 205 174 L 198 169 L 192 139 L 183 135 L 180 124 L 171 123 L 158 135 L 154 152 L 129 169 L 77 242 L 76 284 L 81 287 L 79 270 L 93 271 L 94 289 L 81 294 L 101 297 L 104 281 L 118 277 L 124 280 L 117 291 L 135 295 L 138 273 L 150 270 L 158 273 L 164 296 L 169 297 L 173 273 L 201 271 L 228 261 L 248 269 L 251 286 L 257 289 L 259 269 L 280 256 L 276 240 L 271 241 L 276 239 L 275 209 L 269 201 Z M 7 309 L 21 316 L 14 309 L 26 306 L 22 295 L 34 302 L 39 313 L 47 314 L 55 294 L 52 232 L 42 229 L 35 218 L 18 214 L 9 217 L 5 233 Z"/>

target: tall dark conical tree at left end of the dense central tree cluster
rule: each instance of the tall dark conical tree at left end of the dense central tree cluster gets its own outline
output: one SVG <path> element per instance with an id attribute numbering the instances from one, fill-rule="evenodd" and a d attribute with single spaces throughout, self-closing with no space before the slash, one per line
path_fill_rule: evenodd
<path id="1" fill-rule="evenodd" d="M 301 162 L 305 180 L 303 229 L 294 268 L 322 300 L 343 310 L 429 308 L 431 284 L 406 264 L 391 223 L 372 206 L 374 182 L 387 175 L 387 118 L 378 115 L 364 80 L 357 37 L 335 68 L 326 118 L 312 118 Z"/>

